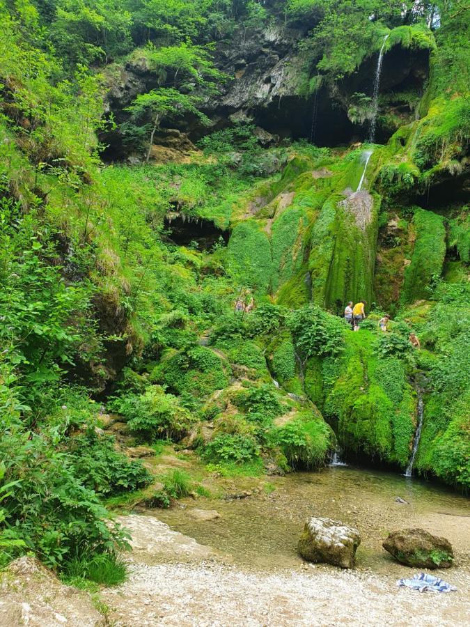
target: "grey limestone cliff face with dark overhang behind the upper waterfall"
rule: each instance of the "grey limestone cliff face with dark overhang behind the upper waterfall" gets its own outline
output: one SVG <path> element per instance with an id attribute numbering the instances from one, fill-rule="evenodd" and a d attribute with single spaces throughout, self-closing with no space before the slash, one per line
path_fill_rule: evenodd
<path id="1" fill-rule="evenodd" d="M 306 138 L 319 146 L 365 139 L 368 117 L 357 99 L 358 94 L 372 95 L 377 54 L 370 54 L 356 72 L 342 81 L 324 82 L 316 94 L 305 97 L 300 94 L 301 80 L 313 72 L 298 54 L 298 44 L 305 36 L 301 29 L 281 26 L 251 31 L 240 27 L 214 50 L 217 68 L 229 79 L 220 85 L 219 93 L 202 104 L 211 120 L 210 127 L 203 127 L 194 116 L 169 125 L 175 125 L 191 141 L 237 121 L 254 123 L 280 139 Z M 386 54 L 381 89 L 386 102 L 377 125 L 377 141 L 386 141 L 399 125 L 414 119 L 428 76 L 428 61 L 428 50 L 404 49 L 401 45 L 395 45 Z M 157 85 L 157 73 L 150 70 L 143 57 L 134 56 L 133 61 L 115 68 L 110 75 L 108 111 L 113 112 L 118 123 L 125 121 L 125 108 L 136 95 Z M 409 101 L 410 92 L 416 95 L 416 102 Z M 110 153 L 118 158 L 125 155 L 118 132 L 105 139 Z M 155 143 L 161 139 L 157 136 Z"/>

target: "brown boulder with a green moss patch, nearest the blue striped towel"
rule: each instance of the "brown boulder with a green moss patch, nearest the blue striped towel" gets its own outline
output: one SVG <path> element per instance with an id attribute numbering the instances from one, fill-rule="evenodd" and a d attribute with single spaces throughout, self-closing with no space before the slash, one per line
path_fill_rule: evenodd
<path id="1" fill-rule="evenodd" d="M 416 568 L 449 568 L 454 559 L 451 543 L 424 529 L 395 531 L 382 546 L 398 562 Z"/>

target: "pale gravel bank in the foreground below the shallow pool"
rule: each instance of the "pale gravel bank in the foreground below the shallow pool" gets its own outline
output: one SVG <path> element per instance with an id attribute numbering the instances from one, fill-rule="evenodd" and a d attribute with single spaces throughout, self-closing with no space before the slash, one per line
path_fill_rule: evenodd
<path id="1" fill-rule="evenodd" d="M 137 549 L 130 579 L 102 594 L 116 627 L 446 627 L 469 616 L 467 571 L 449 571 L 457 586 L 451 594 L 398 589 L 393 575 L 329 566 L 257 571 L 226 563 L 155 518 L 123 522 L 134 529 Z"/>

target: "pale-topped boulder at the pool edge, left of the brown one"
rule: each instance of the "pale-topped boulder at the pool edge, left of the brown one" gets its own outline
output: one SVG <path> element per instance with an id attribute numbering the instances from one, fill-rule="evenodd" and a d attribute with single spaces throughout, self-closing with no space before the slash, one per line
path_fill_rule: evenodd
<path id="1" fill-rule="evenodd" d="M 352 568 L 361 536 L 354 527 L 331 518 L 309 518 L 299 540 L 299 553 L 308 562 Z"/>

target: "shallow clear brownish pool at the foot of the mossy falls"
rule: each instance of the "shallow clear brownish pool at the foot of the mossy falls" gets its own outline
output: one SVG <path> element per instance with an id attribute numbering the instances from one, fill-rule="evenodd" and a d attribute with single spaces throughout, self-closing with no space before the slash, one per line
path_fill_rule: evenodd
<path id="1" fill-rule="evenodd" d="M 407 527 L 446 537 L 453 544 L 457 564 L 465 569 L 470 565 L 469 500 L 446 488 L 354 467 L 269 477 L 258 486 L 260 492 L 250 490 L 251 495 L 244 498 L 187 499 L 169 510 L 151 513 L 235 564 L 254 568 L 301 566 L 297 540 L 308 516 L 328 516 L 359 529 L 358 568 L 400 573 L 403 566 L 391 560 L 382 541 L 391 530 Z M 234 495 L 237 488 L 234 484 Z M 409 504 L 395 502 L 396 497 Z M 188 511 L 194 508 L 217 510 L 221 518 L 193 520 Z"/>

